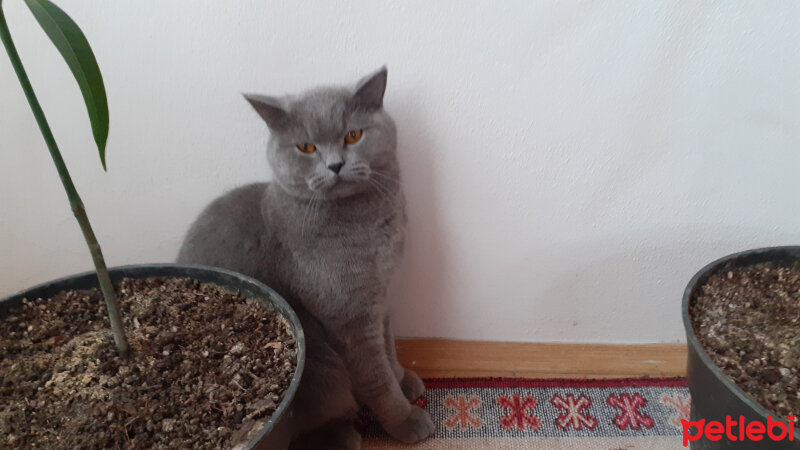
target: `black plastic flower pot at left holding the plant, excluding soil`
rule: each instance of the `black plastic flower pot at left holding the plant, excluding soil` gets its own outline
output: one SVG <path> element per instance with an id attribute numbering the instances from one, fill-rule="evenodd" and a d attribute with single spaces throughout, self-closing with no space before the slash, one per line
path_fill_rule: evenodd
<path id="1" fill-rule="evenodd" d="M 278 313 L 294 336 L 297 346 L 297 364 L 292 381 L 280 405 L 278 405 L 266 425 L 244 447 L 247 449 L 267 448 L 269 445 L 266 443 L 275 437 L 273 432 L 279 427 L 281 421 L 290 414 L 290 405 L 297 392 L 305 365 L 306 342 L 303 328 L 300 325 L 297 314 L 289 304 L 275 291 L 253 278 L 214 267 L 148 264 L 114 267 L 109 269 L 109 274 L 114 283 L 121 281 L 123 278 L 193 278 L 200 282 L 215 284 L 230 291 L 239 291 L 244 297 L 258 300 L 265 307 Z M 95 272 L 86 272 L 43 283 L 1 299 L 0 318 L 4 318 L 11 308 L 21 305 L 23 298 L 48 298 L 63 290 L 97 287 L 97 275 Z"/>

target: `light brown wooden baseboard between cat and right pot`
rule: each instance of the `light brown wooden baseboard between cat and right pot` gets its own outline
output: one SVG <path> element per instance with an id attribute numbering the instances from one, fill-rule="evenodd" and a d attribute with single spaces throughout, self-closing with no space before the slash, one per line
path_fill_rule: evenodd
<path id="1" fill-rule="evenodd" d="M 538 344 L 400 339 L 400 362 L 423 378 L 686 376 L 685 344 Z"/>

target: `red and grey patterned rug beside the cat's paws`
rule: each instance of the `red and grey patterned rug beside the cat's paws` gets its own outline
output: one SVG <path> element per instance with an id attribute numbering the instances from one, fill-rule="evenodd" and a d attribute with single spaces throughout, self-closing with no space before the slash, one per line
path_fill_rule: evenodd
<path id="1" fill-rule="evenodd" d="M 431 379 L 417 401 L 436 424 L 414 446 L 364 417 L 366 449 L 676 449 L 689 418 L 684 378 Z"/>

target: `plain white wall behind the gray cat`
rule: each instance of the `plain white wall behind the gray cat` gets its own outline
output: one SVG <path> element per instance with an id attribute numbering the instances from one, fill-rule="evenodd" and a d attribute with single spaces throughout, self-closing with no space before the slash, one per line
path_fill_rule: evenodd
<path id="1" fill-rule="evenodd" d="M 110 265 L 172 260 L 204 204 L 269 178 L 239 92 L 384 63 L 401 335 L 679 341 L 700 266 L 800 242 L 797 2 L 59 0 L 105 77 L 108 173 L 66 65 L 5 3 Z M 91 262 L 0 56 L 2 295 Z"/>

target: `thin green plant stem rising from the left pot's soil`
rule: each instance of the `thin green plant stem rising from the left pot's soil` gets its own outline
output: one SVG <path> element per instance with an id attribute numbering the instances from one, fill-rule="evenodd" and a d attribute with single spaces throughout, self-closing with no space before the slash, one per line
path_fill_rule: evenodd
<path id="1" fill-rule="evenodd" d="M 25 92 L 25 97 L 28 99 L 28 104 L 31 106 L 36 123 L 39 124 L 39 130 L 42 132 L 47 148 L 50 150 L 50 156 L 53 158 L 53 163 L 56 165 L 58 175 L 61 177 L 61 183 L 64 185 L 64 190 L 67 191 L 69 197 L 69 204 L 72 207 L 72 213 L 78 220 L 78 224 L 83 232 L 83 237 L 86 239 L 86 244 L 89 246 L 89 252 L 92 254 L 94 267 L 97 271 L 97 279 L 100 282 L 100 290 L 106 299 L 106 306 L 108 307 L 108 318 L 111 322 L 111 331 L 114 334 L 114 343 L 117 345 L 117 350 L 121 356 L 128 356 L 130 348 L 128 340 L 125 337 L 125 329 L 122 327 L 122 316 L 119 311 L 119 302 L 117 295 L 114 292 L 114 286 L 111 284 L 111 278 L 108 276 L 108 269 L 106 262 L 103 259 L 103 252 L 100 250 L 100 244 L 97 243 L 97 237 L 94 235 L 92 226 L 89 224 L 89 218 L 86 216 L 86 208 L 83 206 L 83 201 L 75 190 L 75 185 L 72 183 L 72 178 L 69 175 L 64 159 L 61 157 L 61 152 L 58 150 L 56 140 L 53 137 L 53 132 L 50 131 L 50 126 L 47 124 L 47 119 L 44 116 L 39 100 L 33 92 L 28 75 L 25 73 L 25 68 L 22 66 L 22 61 L 19 58 L 14 41 L 11 39 L 11 33 L 8 31 L 8 24 L 6 23 L 5 14 L 3 13 L 3 2 L 0 0 L 0 39 L 6 48 L 8 57 L 11 60 L 11 65 L 14 66 L 14 71 L 17 73 L 17 78 L 22 85 L 22 90 Z"/>

